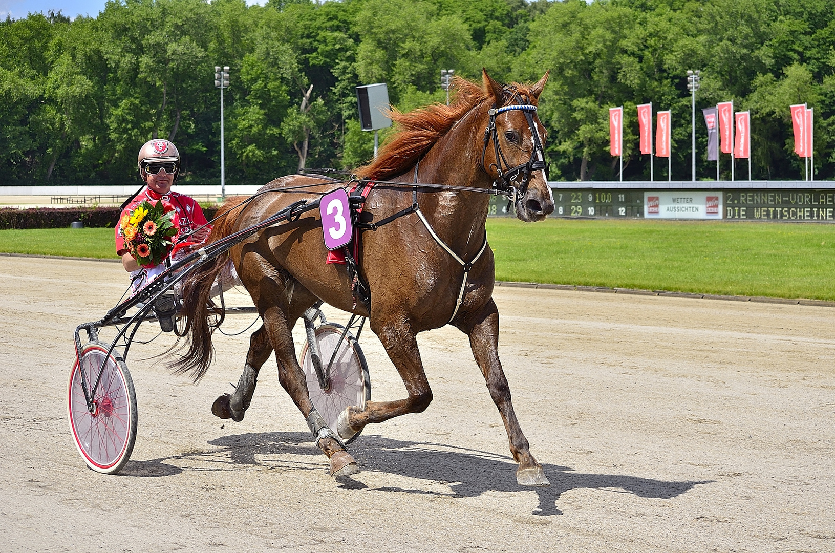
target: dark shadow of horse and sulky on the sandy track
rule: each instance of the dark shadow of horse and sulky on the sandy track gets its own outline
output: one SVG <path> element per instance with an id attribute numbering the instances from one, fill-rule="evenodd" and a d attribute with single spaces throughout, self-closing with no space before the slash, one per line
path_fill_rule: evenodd
<path id="1" fill-rule="evenodd" d="M 225 466 L 215 469 L 223 470 L 234 470 L 235 468 L 229 466 L 232 464 L 281 466 L 285 469 L 321 469 L 324 472 L 326 459 L 321 456 L 321 451 L 311 444 L 310 440 L 310 434 L 299 432 L 232 434 L 209 442 L 210 445 L 220 447 L 220 450 L 190 452 L 168 459 L 203 459 L 209 463 L 222 462 Z M 567 490 L 600 489 L 667 500 L 692 490 L 696 485 L 713 481 L 666 481 L 626 474 L 585 474 L 574 472 L 569 467 L 544 463 L 543 468 L 551 481 L 551 486 L 527 488 L 516 484 L 516 464 L 513 459 L 488 451 L 363 434 L 355 444 L 352 444 L 351 452 L 363 470 L 422 479 L 426 480 L 427 484 L 415 488 L 383 486 L 374 490 L 454 498 L 477 497 L 488 490 L 504 492 L 533 490 L 539 496 L 539 505 L 532 514 L 543 516 L 562 515 L 562 511 L 556 506 L 556 501 L 559 495 Z M 225 454 L 230 455 L 229 460 L 225 460 Z M 311 457 L 311 462 L 291 459 L 299 455 Z M 166 476 L 178 474 L 182 470 L 164 463 L 164 460 L 166 459 L 131 461 L 125 467 L 123 474 Z M 350 477 L 339 479 L 338 484 L 343 489 L 368 489 L 367 485 Z M 450 491 L 437 491 L 437 485 L 446 485 Z"/>

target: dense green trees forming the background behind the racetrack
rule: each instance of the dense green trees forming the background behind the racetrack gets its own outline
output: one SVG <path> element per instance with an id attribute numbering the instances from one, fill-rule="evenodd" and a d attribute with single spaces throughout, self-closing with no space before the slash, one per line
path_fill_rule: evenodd
<path id="1" fill-rule="evenodd" d="M 30 14 L 0 21 L 0 184 L 124 184 L 154 137 L 183 154 L 180 182 L 217 182 L 215 64 L 231 73 L 230 183 L 291 173 L 305 154 L 308 167 L 356 167 L 372 143 L 356 124 L 357 85 L 387 82 L 408 110 L 444 101 L 440 69 L 478 79 L 482 67 L 503 81 L 551 69 L 539 115 L 556 178 L 616 178 L 608 109 L 618 105 L 625 178 L 648 178 L 636 148 L 645 102 L 672 110 L 673 177 L 688 177 L 686 69 L 702 71 L 697 109 L 731 99 L 751 109 L 755 178 L 801 176 L 788 117 L 797 102 L 815 109 L 816 177 L 832 178 L 833 22 L 828 0 L 109 0 L 96 18 Z M 697 129 L 699 176 L 712 178 L 701 120 Z"/>

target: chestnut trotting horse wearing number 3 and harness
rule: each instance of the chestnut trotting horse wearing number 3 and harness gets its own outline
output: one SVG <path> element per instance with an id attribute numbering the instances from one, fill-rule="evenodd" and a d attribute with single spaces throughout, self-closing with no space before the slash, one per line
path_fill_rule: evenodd
<path id="1" fill-rule="evenodd" d="M 331 474 L 356 473 L 357 463 L 339 438 L 351 438 L 366 424 L 420 413 L 428 407 L 432 390 L 415 337 L 417 332 L 452 324 L 468 335 L 473 356 L 501 413 L 510 451 L 519 463 L 519 484 L 549 485 L 519 427 L 498 360 L 493 251 L 485 247 L 489 197 L 477 193 L 491 187 L 515 189 L 511 197 L 522 221 L 541 221 L 554 211 L 542 157 L 545 133 L 535 111 L 547 79 L 546 73 L 530 87 L 503 86 L 483 71 L 482 84 L 457 79 L 451 105 L 392 113 L 399 129 L 377 159 L 357 171 L 364 179 L 404 183 L 376 185 L 363 206 L 363 221 L 380 222 L 407 211 L 374 231 L 362 233 L 357 265 L 370 292 L 370 312 L 366 303 L 354 297 L 347 266 L 325 264 L 328 251 L 318 210 L 268 227 L 230 249 L 228 256 L 261 314 L 263 326 L 251 337 L 235 393 L 218 398 L 215 414 L 243 419 L 257 373 L 275 351 L 281 386 L 306 417 L 316 445 L 331 459 Z M 526 164 L 523 175 L 520 168 Z M 452 186 L 433 189 L 418 184 L 415 195 L 412 183 Z M 270 191 L 254 200 L 227 201 L 221 208 L 226 215 L 215 225 L 210 241 L 255 225 L 300 199 L 316 200 L 335 187 L 333 180 L 315 175 L 273 180 L 262 189 Z M 415 199 L 419 211 L 408 211 Z M 195 381 L 212 359 L 207 302 L 212 282 L 224 264 L 225 256 L 221 256 L 195 270 L 185 283 L 188 350 L 173 366 L 180 373 L 194 373 Z M 369 401 L 363 410 L 347 408 L 337 429 L 327 427 L 311 403 L 291 337 L 299 317 L 320 299 L 369 318 L 372 331 L 406 385 L 407 398 Z"/>

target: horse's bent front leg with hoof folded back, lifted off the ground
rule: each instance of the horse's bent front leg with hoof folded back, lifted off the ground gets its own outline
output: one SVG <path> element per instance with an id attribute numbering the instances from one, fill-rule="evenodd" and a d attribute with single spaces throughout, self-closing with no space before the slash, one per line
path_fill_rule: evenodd
<path id="1" fill-rule="evenodd" d="M 401 317 L 390 317 L 401 321 Z M 422 413 L 432 402 L 432 389 L 426 373 L 420 352 L 417 350 L 417 340 L 412 328 L 405 322 L 373 322 L 372 331 L 380 338 L 388 357 L 400 373 L 406 385 L 408 397 L 395 401 L 369 401 L 365 409 L 349 407 L 342 411 L 337 422 L 337 432 L 342 439 L 349 439 L 369 423 L 382 423 L 384 420 L 399 417 L 407 413 Z"/>

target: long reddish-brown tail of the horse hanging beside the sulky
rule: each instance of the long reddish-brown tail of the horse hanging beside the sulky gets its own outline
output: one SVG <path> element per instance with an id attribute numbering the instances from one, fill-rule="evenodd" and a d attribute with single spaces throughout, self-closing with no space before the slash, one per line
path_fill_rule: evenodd
<path id="1" fill-rule="evenodd" d="M 219 241 L 229 236 L 235 229 L 235 221 L 240 211 L 232 213 L 240 207 L 246 196 L 235 196 L 226 200 L 215 216 L 208 242 Z M 183 282 L 183 310 L 181 315 L 185 317 L 185 354 L 170 363 L 170 368 L 175 374 L 193 373 L 192 380 L 196 383 L 205 376 L 209 370 L 212 360 L 215 358 L 215 349 L 212 347 L 211 335 L 220 326 L 220 322 L 210 324 L 210 317 L 223 319 L 223 308 L 212 302 L 211 290 L 220 271 L 229 260 L 229 253 L 224 252 L 214 260 L 191 271 Z"/>

